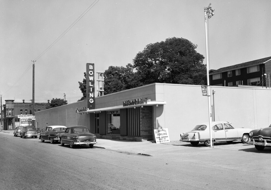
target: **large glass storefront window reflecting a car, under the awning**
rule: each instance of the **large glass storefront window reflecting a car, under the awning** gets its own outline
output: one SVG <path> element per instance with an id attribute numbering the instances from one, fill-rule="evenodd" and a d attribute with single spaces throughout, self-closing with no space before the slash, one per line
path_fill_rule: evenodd
<path id="1" fill-rule="evenodd" d="M 107 134 L 120 135 L 120 110 L 107 112 Z"/>

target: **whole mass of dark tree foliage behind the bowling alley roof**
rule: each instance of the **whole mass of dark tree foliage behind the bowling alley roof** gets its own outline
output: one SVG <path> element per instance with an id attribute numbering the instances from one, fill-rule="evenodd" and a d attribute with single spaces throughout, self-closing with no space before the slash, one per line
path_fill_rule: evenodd
<path id="1" fill-rule="evenodd" d="M 151 83 L 206 84 L 204 56 L 196 52 L 196 47 L 191 41 L 176 37 L 148 44 L 135 56 L 133 64 L 105 70 L 104 95 Z M 83 93 L 80 100 L 87 98 L 86 73 L 84 76 L 83 82 L 78 82 Z"/>

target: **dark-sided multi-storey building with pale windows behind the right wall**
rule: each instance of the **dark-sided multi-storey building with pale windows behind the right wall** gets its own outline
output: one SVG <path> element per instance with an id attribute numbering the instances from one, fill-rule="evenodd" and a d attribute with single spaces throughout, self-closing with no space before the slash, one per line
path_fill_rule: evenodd
<path id="1" fill-rule="evenodd" d="M 222 67 L 209 72 L 211 86 L 270 85 L 271 57 Z M 264 75 L 266 74 L 266 75 Z"/>

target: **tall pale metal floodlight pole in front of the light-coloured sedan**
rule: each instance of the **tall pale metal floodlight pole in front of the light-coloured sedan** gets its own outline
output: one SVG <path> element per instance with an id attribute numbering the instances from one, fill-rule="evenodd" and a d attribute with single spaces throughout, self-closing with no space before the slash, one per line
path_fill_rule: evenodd
<path id="1" fill-rule="evenodd" d="M 210 147 L 213 147 L 212 142 L 212 129 L 211 129 L 211 92 L 210 92 L 210 82 L 209 82 L 209 61 L 208 61 L 208 40 L 207 40 L 207 14 L 206 9 L 204 8 L 204 16 L 205 16 L 205 40 L 206 40 L 206 70 L 207 70 L 207 91 L 208 91 L 208 112 L 209 112 L 209 130 L 210 130 Z"/>

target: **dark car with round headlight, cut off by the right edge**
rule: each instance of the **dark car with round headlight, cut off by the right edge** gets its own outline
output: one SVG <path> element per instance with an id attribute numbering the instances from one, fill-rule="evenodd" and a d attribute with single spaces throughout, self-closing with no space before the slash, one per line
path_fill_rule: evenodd
<path id="1" fill-rule="evenodd" d="M 266 146 L 271 147 L 271 125 L 250 131 L 249 137 L 249 144 L 254 145 L 257 150 L 263 150 Z"/>

